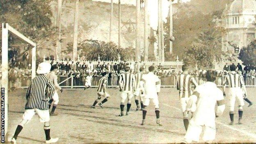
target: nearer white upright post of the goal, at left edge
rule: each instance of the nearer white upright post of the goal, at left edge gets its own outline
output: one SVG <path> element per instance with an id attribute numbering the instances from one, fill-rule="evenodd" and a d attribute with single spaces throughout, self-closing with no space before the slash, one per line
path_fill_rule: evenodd
<path id="1" fill-rule="evenodd" d="M 8 24 L 2 23 L 2 88 L 5 102 L 5 136 L 8 130 Z M 3 89 L 1 89 L 2 91 Z M 2 98 L 3 99 L 3 98 Z"/>

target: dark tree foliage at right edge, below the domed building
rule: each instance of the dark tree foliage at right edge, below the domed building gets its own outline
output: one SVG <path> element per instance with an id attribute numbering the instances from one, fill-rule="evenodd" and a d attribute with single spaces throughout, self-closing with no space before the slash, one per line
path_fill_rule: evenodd
<path id="1" fill-rule="evenodd" d="M 256 67 L 256 41 L 251 41 L 247 47 L 243 47 L 240 50 L 238 58 L 242 60 L 243 65 L 250 64 L 251 66 Z"/>

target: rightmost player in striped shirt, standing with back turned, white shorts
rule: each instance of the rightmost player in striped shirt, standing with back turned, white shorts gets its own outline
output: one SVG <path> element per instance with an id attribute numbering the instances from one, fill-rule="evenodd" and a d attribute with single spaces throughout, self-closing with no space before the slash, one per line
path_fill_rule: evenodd
<path id="1" fill-rule="evenodd" d="M 247 96 L 247 91 L 245 88 L 245 82 L 243 79 L 243 76 L 241 74 L 238 74 L 235 72 L 236 67 L 231 66 L 230 70 L 231 72 L 224 77 L 224 85 L 223 85 L 223 94 L 225 94 L 225 89 L 226 89 L 226 83 L 229 85 L 228 89 L 228 98 L 229 98 L 229 116 L 231 122 L 229 125 L 234 124 L 234 109 L 235 109 L 235 99 L 237 98 L 238 100 L 238 115 L 239 115 L 239 120 L 238 124 L 242 124 L 242 114 L 243 114 L 243 108 L 242 106 L 245 105 L 244 100 L 243 100 L 243 91 L 245 92 L 245 95 Z"/>

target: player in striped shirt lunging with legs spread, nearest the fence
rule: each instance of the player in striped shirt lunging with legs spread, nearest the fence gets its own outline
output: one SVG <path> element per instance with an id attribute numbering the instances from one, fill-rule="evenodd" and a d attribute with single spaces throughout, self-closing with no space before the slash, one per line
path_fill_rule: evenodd
<path id="1" fill-rule="evenodd" d="M 98 103 L 98 101 L 101 100 L 101 97 L 103 96 L 105 99 L 101 101 L 98 105 L 103 108 L 103 103 L 107 102 L 107 100 L 110 98 L 110 95 L 107 93 L 107 73 L 102 73 L 102 78 L 99 80 L 99 85 L 97 88 L 97 94 L 98 98 L 94 101 L 94 104 L 91 106 L 91 108 L 95 108 L 95 105 Z"/>

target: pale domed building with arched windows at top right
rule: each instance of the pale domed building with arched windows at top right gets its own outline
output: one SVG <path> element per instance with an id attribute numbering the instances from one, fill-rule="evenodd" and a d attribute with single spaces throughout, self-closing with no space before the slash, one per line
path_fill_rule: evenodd
<path id="1" fill-rule="evenodd" d="M 226 30 L 222 37 L 224 51 L 229 48 L 234 50 L 228 42 L 242 48 L 255 39 L 255 16 L 256 0 L 234 0 L 226 5 L 223 13 L 223 26 Z"/>

